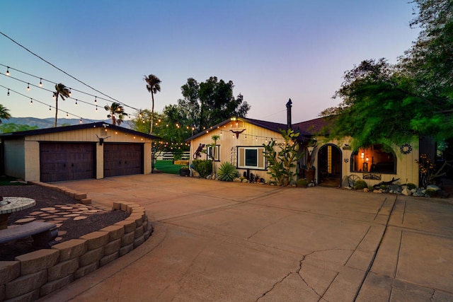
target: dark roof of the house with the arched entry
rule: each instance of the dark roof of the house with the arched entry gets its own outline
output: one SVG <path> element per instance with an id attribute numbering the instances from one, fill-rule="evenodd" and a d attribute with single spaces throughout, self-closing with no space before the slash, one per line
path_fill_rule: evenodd
<path id="1" fill-rule="evenodd" d="M 263 120 L 254 120 L 254 119 L 249 119 L 249 118 L 246 118 L 246 117 L 238 117 L 238 120 L 242 120 L 244 122 L 248 122 L 250 124 L 254 124 L 254 125 L 258 126 L 258 127 L 262 127 L 264 129 L 268 129 L 270 131 L 277 132 L 279 134 L 280 134 L 280 130 L 281 129 L 286 129 L 287 128 L 287 124 L 281 124 L 281 123 L 277 123 L 277 122 L 268 122 L 268 121 L 263 121 Z M 206 134 L 210 130 L 216 129 L 218 127 L 221 127 L 224 124 L 227 124 L 229 122 L 231 122 L 231 120 L 224 120 L 223 122 L 221 122 L 219 124 L 216 124 L 216 125 L 210 127 L 209 129 L 205 129 L 204 131 L 193 135 L 193 137 L 189 137 L 185 141 L 191 141 L 193 139 L 196 139 L 197 137 L 201 137 L 202 135 Z M 313 137 L 316 134 L 320 134 L 321 131 L 325 131 L 324 128 L 327 126 L 327 124 L 328 124 L 328 121 L 327 121 L 327 119 L 325 117 L 319 117 L 319 118 L 314 119 L 314 120 L 309 120 L 309 121 L 306 121 L 306 122 L 299 122 L 299 123 L 296 123 L 296 124 L 292 124 L 291 128 L 295 132 L 299 132 L 300 133 L 300 135 L 297 138 L 297 140 L 306 141 L 306 139 L 308 139 L 309 137 Z"/>

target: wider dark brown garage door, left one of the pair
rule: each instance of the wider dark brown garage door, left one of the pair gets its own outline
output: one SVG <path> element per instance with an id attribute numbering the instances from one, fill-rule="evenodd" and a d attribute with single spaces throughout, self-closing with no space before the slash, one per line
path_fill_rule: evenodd
<path id="1" fill-rule="evenodd" d="M 95 148 L 95 144 L 86 143 L 40 143 L 40 180 L 95 178 Z"/>

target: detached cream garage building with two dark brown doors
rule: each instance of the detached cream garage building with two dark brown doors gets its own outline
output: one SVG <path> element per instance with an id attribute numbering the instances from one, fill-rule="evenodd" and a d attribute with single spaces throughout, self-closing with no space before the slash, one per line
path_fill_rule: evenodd
<path id="1" fill-rule="evenodd" d="M 151 173 L 154 135 L 105 122 L 0 134 L 5 175 L 57 182 Z"/>

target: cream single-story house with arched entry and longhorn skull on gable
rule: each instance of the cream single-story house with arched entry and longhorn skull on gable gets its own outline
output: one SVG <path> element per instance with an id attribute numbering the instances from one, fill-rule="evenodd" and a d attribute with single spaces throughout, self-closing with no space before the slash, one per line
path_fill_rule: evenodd
<path id="1" fill-rule="evenodd" d="M 418 185 L 418 160 L 420 153 L 435 154 L 435 144 L 430 139 L 414 139 L 401 146 L 374 144 L 367 148 L 352 149 L 351 138 L 342 140 L 328 139 L 328 133 L 320 135 L 326 128 L 323 117 L 292 124 L 291 103 L 287 103 L 287 123 L 280 124 L 249 118 L 231 118 L 195 134 L 190 141 L 191 160 L 209 159 L 207 145 L 212 144 L 212 136 L 218 135 L 215 146 L 217 167 L 224 161 L 234 164 L 241 175 L 258 175 L 270 180 L 264 157 L 263 144 L 270 139 L 283 142 L 281 129 L 291 127 L 299 132 L 298 142 L 304 155 L 297 163 L 297 178 L 310 178 L 307 165 L 314 167 L 314 182 L 317 185 L 338 187 L 342 180 L 358 178 L 368 185 L 398 179 L 400 183 L 412 182 Z M 204 153 L 197 152 L 205 149 Z M 309 165 L 308 165 L 309 166 Z M 348 177 L 348 178 L 347 178 Z"/>

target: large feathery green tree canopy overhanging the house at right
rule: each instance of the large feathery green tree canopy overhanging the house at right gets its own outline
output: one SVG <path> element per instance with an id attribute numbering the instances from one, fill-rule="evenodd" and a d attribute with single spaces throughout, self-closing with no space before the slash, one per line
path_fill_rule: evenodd
<path id="1" fill-rule="evenodd" d="M 356 144 L 402 143 L 413 137 L 453 137 L 453 0 L 415 0 L 420 35 L 410 50 L 389 64 L 368 59 L 346 71 L 334 98 L 333 137 Z"/>

